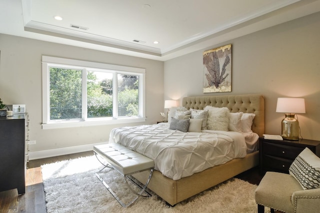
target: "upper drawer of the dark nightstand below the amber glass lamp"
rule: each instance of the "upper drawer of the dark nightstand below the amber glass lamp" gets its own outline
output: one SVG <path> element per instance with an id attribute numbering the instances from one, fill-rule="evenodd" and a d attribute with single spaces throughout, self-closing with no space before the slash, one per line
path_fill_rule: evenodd
<path id="1" fill-rule="evenodd" d="M 293 147 L 282 144 L 272 144 L 265 142 L 263 144 L 263 155 L 272 155 L 280 158 L 294 160 L 304 148 Z"/>

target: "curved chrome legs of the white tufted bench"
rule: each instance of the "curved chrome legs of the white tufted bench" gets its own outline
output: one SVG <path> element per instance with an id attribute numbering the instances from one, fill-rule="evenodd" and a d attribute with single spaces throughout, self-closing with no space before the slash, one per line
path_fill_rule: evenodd
<path id="1" fill-rule="evenodd" d="M 129 203 L 127 203 L 127 204 L 124 204 L 120 199 L 119 199 L 119 197 L 112 191 L 112 189 L 107 185 L 107 183 L 105 183 L 105 181 L 103 181 L 103 179 L 100 177 L 100 175 L 98 174 L 99 172 L 101 172 L 103 169 L 105 169 L 105 168 L 111 168 L 111 169 L 113 169 L 112 167 L 109 167 L 108 166 L 108 164 L 104 164 L 104 163 L 102 163 L 100 160 L 99 160 L 99 158 L 98 158 L 98 156 L 95 154 L 95 156 L 96 156 L 96 158 L 98 159 L 98 161 L 104 166 L 101 170 L 99 170 L 97 173 L 95 173 L 95 176 L 99 179 L 99 181 L 105 186 L 105 188 L 111 193 L 111 195 L 117 200 L 117 202 L 119 202 L 119 204 L 122 206 L 122 207 L 128 207 L 128 206 L 130 206 L 131 204 L 133 204 L 137 199 L 138 199 L 138 197 L 139 196 L 141 196 L 141 197 L 151 197 L 151 195 L 148 193 L 148 192 L 146 192 L 145 191 L 145 189 L 146 189 L 146 187 L 147 187 L 147 185 L 149 184 L 149 182 L 150 182 L 150 179 L 151 179 L 151 176 L 152 176 L 152 173 L 153 173 L 153 168 L 150 168 L 150 174 L 149 174 L 149 177 L 148 177 L 148 179 L 147 179 L 147 181 L 146 181 L 146 183 L 144 184 L 144 186 L 143 187 L 140 187 L 137 183 L 135 183 L 135 181 L 133 181 L 129 176 L 131 175 L 131 174 L 127 174 L 127 175 L 124 175 L 124 182 L 125 182 L 125 184 L 127 185 L 127 187 L 130 189 L 130 191 L 132 192 L 132 193 L 134 193 L 135 195 L 137 195 L 132 201 L 130 201 Z M 138 172 L 140 172 L 140 171 L 138 171 Z M 135 172 L 135 173 L 138 173 L 138 172 Z M 141 171 L 142 172 L 142 171 Z M 134 174 L 134 173 L 132 173 L 132 174 Z M 136 193 L 131 187 L 130 187 L 130 185 L 128 184 L 128 182 L 127 182 L 127 180 L 129 180 L 130 182 L 132 182 L 136 187 L 138 187 L 139 189 L 140 189 L 140 191 L 138 192 L 138 193 Z M 142 195 L 142 194 L 145 194 L 145 195 Z"/>

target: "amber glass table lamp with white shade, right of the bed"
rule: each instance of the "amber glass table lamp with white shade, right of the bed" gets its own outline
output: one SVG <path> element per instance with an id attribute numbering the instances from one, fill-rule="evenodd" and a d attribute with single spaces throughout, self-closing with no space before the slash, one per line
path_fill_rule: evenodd
<path id="1" fill-rule="evenodd" d="M 299 140 L 299 122 L 295 113 L 305 113 L 304 98 L 278 98 L 275 111 L 285 115 L 281 123 L 282 138 Z"/>

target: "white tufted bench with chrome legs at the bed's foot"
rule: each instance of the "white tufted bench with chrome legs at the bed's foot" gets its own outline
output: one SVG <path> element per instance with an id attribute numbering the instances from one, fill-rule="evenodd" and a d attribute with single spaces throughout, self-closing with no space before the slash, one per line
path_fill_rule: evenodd
<path id="1" fill-rule="evenodd" d="M 93 152 L 96 158 L 98 159 L 98 161 L 104 166 L 99 172 L 101 172 L 103 169 L 108 167 L 108 165 L 110 165 L 112 166 L 111 168 L 114 168 L 122 176 L 124 176 L 124 181 L 129 187 L 129 189 L 131 190 L 131 192 L 142 197 L 151 196 L 145 191 L 145 189 L 151 179 L 152 172 L 153 172 L 154 162 L 152 159 L 145 157 L 137 152 L 134 152 L 133 150 L 130 150 L 126 147 L 123 147 L 122 145 L 117 143 L 94 146 Z M 105 162 L 103 162 L 103 160 Z M 147 179 L 144 186 L 140 187 L 138 184 L 132 181 L 132 179 L 130 178 L 130 175 L 143 172 L 145 170 L 150 170 L 149 178 Z M 122 207 L 128 207 L 137 200 L 138 196 L 136 196 L 128 204 L 124 204 L 115 195 L 115 193 L 111 190 L 111 188 L 102 180 L 102 178 L 98 175 L 98 173 L 96 173 L 95 175 L 101 181 L 101 183 L 106 187 L 106 189 L 113 195 L 113 197 L 119 202 L 119 204 L 121 204 Z M 128 185 L 127 180 L 133 182 L 137 187 L 139 187 L 140 192 L 138 193 L 134 192 L 131 189 L 131 187 Z M 146 196 L 143 196 L 142 193 L 145 193 Z"/>

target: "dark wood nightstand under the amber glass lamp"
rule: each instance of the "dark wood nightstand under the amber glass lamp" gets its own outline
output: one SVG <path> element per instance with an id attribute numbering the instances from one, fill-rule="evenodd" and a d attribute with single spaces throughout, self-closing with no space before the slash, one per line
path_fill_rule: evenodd
<path id="1" fill-rule="evenodd" d="M 260 174 L 266 171 L 288 174 L 290 165 L 305 147 L 320 157 L 320 141 L 307 139 L 277 141 L 259 138 Z"/>

